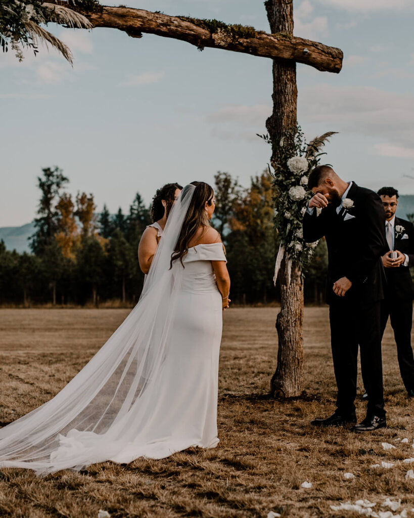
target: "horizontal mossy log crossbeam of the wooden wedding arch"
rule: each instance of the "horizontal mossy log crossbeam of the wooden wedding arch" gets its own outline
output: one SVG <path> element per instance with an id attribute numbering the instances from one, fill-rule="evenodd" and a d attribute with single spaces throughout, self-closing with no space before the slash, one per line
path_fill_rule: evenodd
<path id="1" fill-rule="evenodd" d="M 243 52 L 273 60 L 289 60 L 313 66 L 318 70 L 338 73 L 342 68 L 343 52 L 316 41 L 285 34 L 267 34 L 253 27 L 226 25 L 215 20 L 198 20 L 168 16 L 160 12 L 129 7 L 102 6 L 101 10 L 85 12 L 60 0 L 49 3 L 65 5 L 82 12 L 94 27 L 111 27 L 140 38 L 142 33 L 187 41 L 199 49 L 204 47 Z"/>

